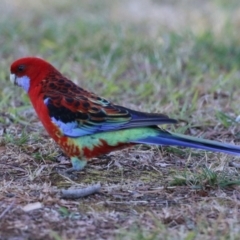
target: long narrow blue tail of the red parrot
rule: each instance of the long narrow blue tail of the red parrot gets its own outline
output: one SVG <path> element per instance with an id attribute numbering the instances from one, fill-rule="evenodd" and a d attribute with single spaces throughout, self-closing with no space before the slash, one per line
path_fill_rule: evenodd
<path id="1" fill-rule="evenodd" d="M 223 152 L 232 155 L 240 155 L 240 146 L 221 143 L 202 138 L 190 137 L 182 134 L 159 130 L 155 136 L 148 136 L 134 141 L 134 143 L 156 144 L 156 145 L 174 145 L 182 147 L 197 148 L 202 150 Z"/>

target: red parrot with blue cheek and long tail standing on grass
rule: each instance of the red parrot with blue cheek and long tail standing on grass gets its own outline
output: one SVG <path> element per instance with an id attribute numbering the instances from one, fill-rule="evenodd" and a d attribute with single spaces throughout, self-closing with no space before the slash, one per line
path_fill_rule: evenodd
<path id="1" fill-rule="evenodd" d="M 82 170 L 94 157 L 137 144 L 240 155 L 237 145 L 164 130 L 159 125 L 178 121 L 162 113 L 116 105 L 79 87 L 38 57 L 14 61 L 10 80 L 25 90 L 46 131 L 70 158 L 68 173 Z"/>

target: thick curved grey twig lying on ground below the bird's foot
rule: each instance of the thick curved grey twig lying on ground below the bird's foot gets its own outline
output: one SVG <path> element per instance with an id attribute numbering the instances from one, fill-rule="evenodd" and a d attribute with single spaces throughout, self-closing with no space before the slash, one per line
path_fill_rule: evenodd
<path id="1" fill-rule="evenodd" d="M 62 189 L 62 198 L 66 199 L 76 199 L 81 197 L 86 197 L 91 194 L 97 193 L 101 188 L 100 183 L 86 187 L 86 188 L 71 188 L 71 189 Z"/>

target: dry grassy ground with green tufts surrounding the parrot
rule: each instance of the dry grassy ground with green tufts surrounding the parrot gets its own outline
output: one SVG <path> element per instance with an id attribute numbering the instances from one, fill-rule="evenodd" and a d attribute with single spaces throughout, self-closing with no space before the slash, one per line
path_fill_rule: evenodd
<path id="1" fill-rule="evenodd" d="M 16 58 L 40 56 L 114 103 L 179 120 L 171 131 L 240 144 L 238 1 L 0 3 L 0 239 L 239 239 L 239 157 L 136 146 L 72 180 L 22 89 Z M 101 184 L 62 199 L 60 190 Z"/>

